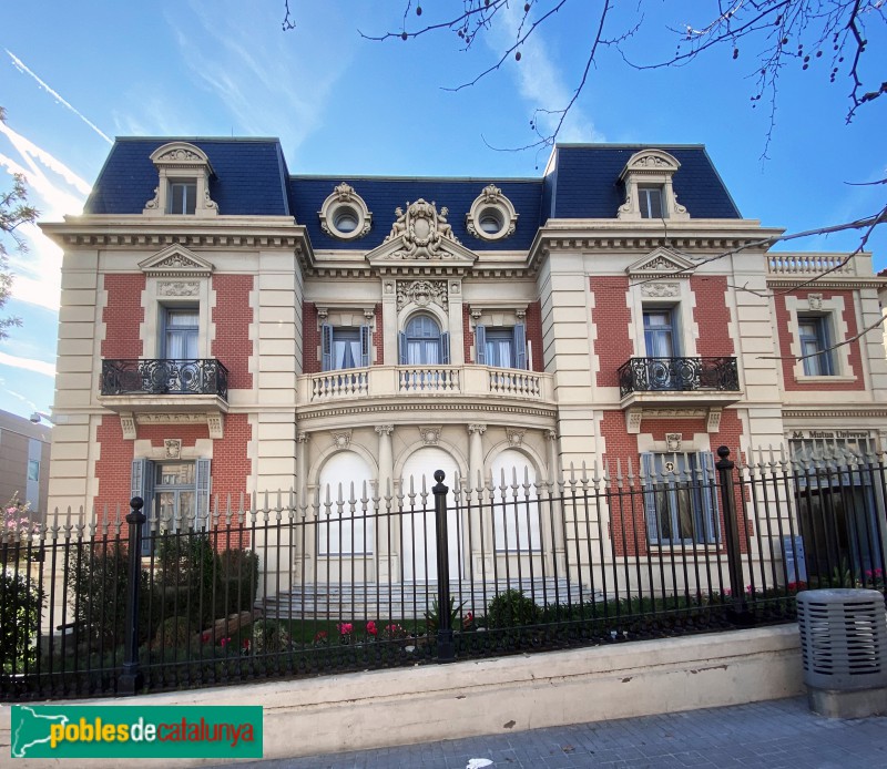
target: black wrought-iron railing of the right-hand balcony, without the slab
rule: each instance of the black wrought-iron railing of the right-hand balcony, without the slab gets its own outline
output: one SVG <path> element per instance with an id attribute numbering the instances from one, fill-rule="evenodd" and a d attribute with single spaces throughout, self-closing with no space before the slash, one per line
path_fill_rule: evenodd
<path id="1" fill-rule="evenodd" d="M 619 367 L 619 394 L 661 390 L 738 391 L 735 358 L 632 358 Z"/>

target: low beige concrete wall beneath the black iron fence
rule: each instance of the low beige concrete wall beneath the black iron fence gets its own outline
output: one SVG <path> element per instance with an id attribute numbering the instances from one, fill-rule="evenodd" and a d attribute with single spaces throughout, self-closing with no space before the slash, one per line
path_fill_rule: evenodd
<path id="1" fill-rule="evenodd" d="M 803 690 L 797 625 L 785 625 L 80 704 L 262 705 L 265 757 L 284 758 L 737 705 Z M 0 762 L 9 756 L 9 729 L 4 706 Z M 95 762 L 82 766 L 94 769 Z"/>

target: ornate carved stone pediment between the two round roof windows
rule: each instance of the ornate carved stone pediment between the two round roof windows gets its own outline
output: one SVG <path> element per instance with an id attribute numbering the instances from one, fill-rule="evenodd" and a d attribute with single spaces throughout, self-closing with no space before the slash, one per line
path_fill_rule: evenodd
<path id="1" fill-rule="evenodd" d="M 477 255 L 453 235 L 448 214 L 446 206 L 438 211 L 434 201 L 422 198 L 407 203 L 406 211 L 395 208 L 391 232 L 367 254 L 367 260 L 374 267 L 401 274 L 470 268 Z"/>

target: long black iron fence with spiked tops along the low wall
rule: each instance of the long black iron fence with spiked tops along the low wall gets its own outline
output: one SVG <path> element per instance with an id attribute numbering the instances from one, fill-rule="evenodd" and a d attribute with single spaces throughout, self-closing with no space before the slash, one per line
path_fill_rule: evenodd
<path id="1" fill-rule="evenodd" d="M 720 454 L 57 515 L 0 547 L 0 695 L 612 644 L 791 622 L 807 586 L 884 592 L 883 455 Z"/>

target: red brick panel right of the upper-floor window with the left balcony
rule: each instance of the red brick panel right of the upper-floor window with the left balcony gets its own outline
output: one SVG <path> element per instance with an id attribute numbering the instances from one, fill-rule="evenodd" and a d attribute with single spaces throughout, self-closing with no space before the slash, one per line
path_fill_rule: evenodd
<path id="1" fill-rule="evenodd" d="M 248 390 L 253 387 L 253 375 L 249 372 L 249 356 L 253 355 L 249 291 L 253 290 L 253 276 L 214 275 L 213 289 L 216 294 L 212 312 L 215 338 L 210 355 L 227 368 L 231 389 Z"/>

